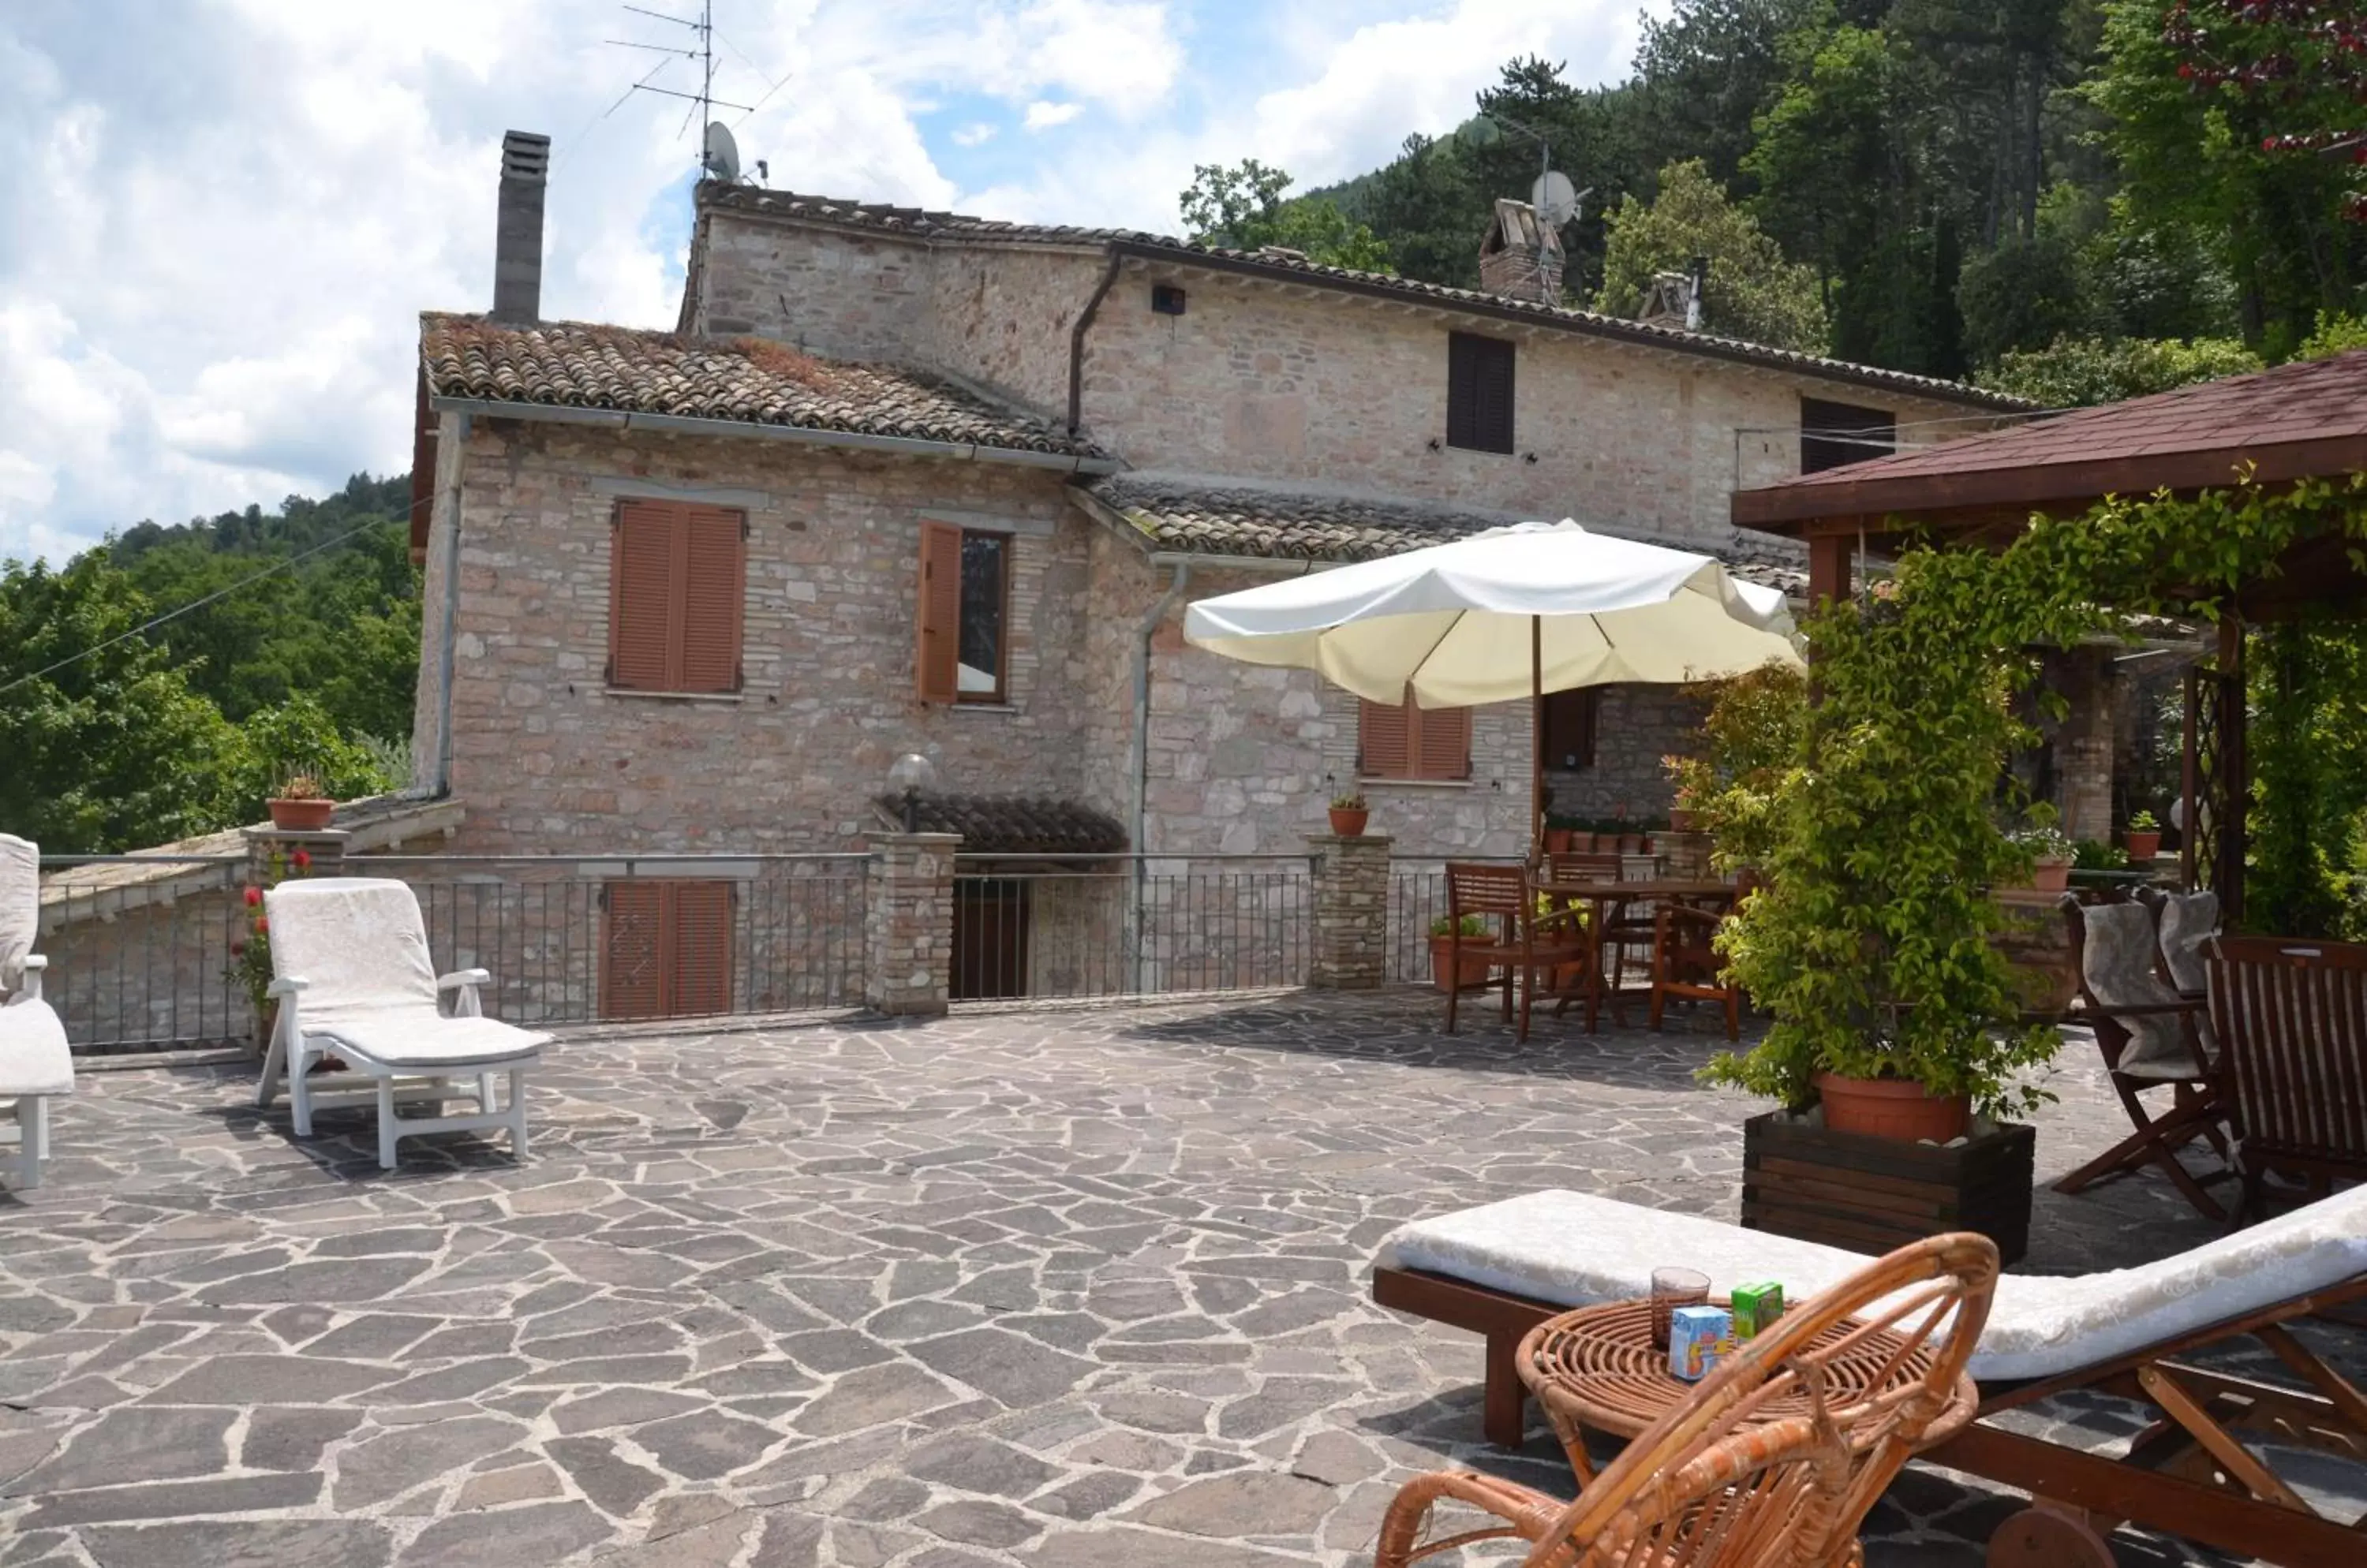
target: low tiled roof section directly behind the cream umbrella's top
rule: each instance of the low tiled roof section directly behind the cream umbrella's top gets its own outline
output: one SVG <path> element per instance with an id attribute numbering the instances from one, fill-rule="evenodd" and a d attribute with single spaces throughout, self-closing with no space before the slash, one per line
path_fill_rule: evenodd
<path id="1" fill-rule="evenodd" d="M 1195 556 L 1373 561 L 1524 520 L 1520 513 L 1446 501 L 1157 473 L 1110 473 L 1079 490 L 1124 518 L 1150 549 Z M 1806 556 L 1787 539 L 1740 530 L 1723 539 L 1673 539 L 1621 527 L 1600 532 L 1702 551 L 1723 561 L 1737 577 L 1787 594 L 1801 594 L 1808 584 Z"/>

